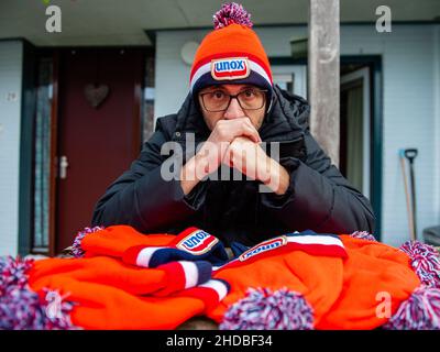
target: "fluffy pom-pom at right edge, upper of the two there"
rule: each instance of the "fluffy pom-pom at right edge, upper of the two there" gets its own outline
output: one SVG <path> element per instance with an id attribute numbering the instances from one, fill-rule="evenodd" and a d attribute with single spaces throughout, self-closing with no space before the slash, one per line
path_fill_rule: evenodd
<path id="1" fill-rule="evenodd" d="M 440 288 L 440 254 L 432 245 L 407 241 L 399 250 L 409 255 L 413 270 L 424 285 Z"/>

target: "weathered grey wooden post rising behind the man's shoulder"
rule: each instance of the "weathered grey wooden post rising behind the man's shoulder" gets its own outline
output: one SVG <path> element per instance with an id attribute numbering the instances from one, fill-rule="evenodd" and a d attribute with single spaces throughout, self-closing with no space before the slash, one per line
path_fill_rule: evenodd
<path id="1" fill-rule="evenodd" d="M 339 165 L 339 0 L 310 0 L 309 100 L 310 131 Z"/>

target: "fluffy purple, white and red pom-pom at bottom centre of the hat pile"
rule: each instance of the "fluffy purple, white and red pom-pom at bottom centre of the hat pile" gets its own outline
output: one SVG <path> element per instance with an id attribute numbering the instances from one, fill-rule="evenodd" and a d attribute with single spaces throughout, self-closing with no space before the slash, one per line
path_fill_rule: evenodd
<path id="1" fill-rule="evenodd" d="M 220 330 L 312 330 L 314 310 L 302 295 L 278 289 L 250 288 L 233 304 Z"/>

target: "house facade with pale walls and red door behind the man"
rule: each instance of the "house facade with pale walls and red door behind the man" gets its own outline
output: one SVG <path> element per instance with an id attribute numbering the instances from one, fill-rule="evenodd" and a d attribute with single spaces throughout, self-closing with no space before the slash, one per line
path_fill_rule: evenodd
<path id="1" fill-rule="evenodd" d="M 179 109 L 194 48 L 208 31 L 144 25 L 144 41 L 78 45 L 0 28 L 0 255 L 55 254 L 90 224 L 95 201 L 138 156 L 156 119 Z M 293 55 L 307 23 L 255 31 L 274 81 L 307 98 L 307 57 Z M 380 33 L 374 22 L 345 21 L 340 32 L 340 168 L 371 199 L 375 235 L 399 245 L 409 239 L 399 151 L 417 148 L 421 239 L 440 223 L 440 23 L 400 21 Z"/>

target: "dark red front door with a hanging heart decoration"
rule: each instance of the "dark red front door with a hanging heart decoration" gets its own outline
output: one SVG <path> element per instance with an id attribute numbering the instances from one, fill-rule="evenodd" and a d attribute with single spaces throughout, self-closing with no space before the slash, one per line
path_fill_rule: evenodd
<path id="1" fill-rule="evenodd" d="M 106 188 L 141 145 L 141 50 L 65 50 L 59 55 L 55 251 L 90 227 Z"/>

